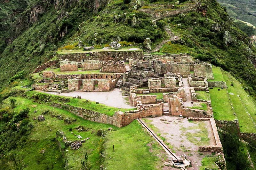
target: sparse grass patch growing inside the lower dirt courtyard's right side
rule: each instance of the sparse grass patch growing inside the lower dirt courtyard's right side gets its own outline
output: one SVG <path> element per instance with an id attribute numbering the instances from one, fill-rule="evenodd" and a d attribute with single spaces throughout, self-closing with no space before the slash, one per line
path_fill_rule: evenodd
<path id="1" fill-rule="evenodd" d="M 185 134 L 188 141 L 193 144 L 199 145 L 209 145 L 210 139 L 208 138 L 208 130 L 205 122 L 197 121 L 193 122 L 195 126 L 182 127 L 180 130 Z M 195 130 L 193 133 L 187 132 L 187 130 Z"/>

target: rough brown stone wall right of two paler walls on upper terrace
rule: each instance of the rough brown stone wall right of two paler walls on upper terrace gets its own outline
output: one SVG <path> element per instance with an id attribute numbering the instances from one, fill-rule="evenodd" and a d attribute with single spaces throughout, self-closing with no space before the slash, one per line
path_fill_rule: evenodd
<path id="1" fill-rule="evenodd" d="M 126 72 L 125 63 L 107 63 L 102 64 L 101 72 L 111 72 L 111 73 L 124 73 Z"/>

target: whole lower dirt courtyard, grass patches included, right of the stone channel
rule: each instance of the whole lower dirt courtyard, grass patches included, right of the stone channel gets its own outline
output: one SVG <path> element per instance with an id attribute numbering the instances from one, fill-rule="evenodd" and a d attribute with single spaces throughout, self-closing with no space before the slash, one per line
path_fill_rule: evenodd
<path id="1" fill-rule="evenodd" d="M 168 143 L 177 156 L 188 156 L 192 167 L 186 169 L 198 170 L 201 160 L 211 155 L 210 152 L 198 152 L 199 145 L 215 144 L 210 121 L 188 121 L 187 118 L 174 116 L 144 118 L 144 121 L 163 141 L 166 140 L 165 144 Z"/>

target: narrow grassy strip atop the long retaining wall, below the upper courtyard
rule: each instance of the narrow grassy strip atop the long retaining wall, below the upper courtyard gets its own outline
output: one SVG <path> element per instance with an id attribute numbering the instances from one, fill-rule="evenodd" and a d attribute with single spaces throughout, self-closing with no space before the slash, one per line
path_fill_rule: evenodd
<path id="1" fill-rule="evenodd" d="M 103 104 L 96 104 L 96 102 L 93 101 L 86 101 L 85 99 L 73 99 L 72 97 L 60 97 L 53 94 L 46 94 L 43 92 L 37 92 L 37 91 L 30 91 L 26 92 L 27 98 L 34 98 L 35 96 L 39 96 L 39 98 L 45 99 L 49 102 L 58 102 L 58 99 L 69 99 L 69 102 L 64 102 L 65 104 L 69 104 L 71 106 L 75 107 L 81 107 L 84 109 L 90 109 L 96 112 L 99 112 L 104 115 L 112 116 L 115 114 L 116 111 L 120 110 L 122 112 L 129 111 L 129 110 L 136 110 L 136 108 L 131 109 L 124 109 L 124 108 L 116 108 L 116 107 L 110 107 Z M 49 99 L 48 99 L 49 98 Z M 63 101 L 63 100 L 62 100 Z M 42 101 L 41 101 L 42 102 Z"/>

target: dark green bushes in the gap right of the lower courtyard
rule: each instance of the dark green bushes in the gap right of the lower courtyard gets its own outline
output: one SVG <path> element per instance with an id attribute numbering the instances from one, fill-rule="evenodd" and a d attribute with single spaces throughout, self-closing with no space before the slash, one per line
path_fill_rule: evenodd
<path id="1" fill-rule="evenodd" d="M 219 131 L 220 141 L 227 162 L 227 169 L 251 169 L 246 145 L 239 139 L 235 128 Z"/>

